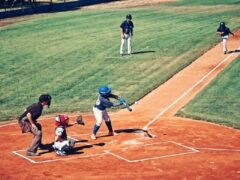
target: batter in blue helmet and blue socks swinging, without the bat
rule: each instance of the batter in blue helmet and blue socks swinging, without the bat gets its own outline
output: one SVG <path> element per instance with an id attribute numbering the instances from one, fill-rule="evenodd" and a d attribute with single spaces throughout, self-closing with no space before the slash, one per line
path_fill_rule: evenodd
<path id="1" fill-rule="evenodd" d="M 91 135 L 91 139 L 93 140 L 97 139 L 96 134 L 102 124 L 103 119 L 105 120 L 106 126 L 109 131 L 108 135 L 109 136 L 117 135 L 117 133 L 113 132 L 112 123 L 106 109 L 122 105 L 121 102 L 120 104 L 115 104 L 109 100 L 109 98 L 114 98 L 117 100 L 121 99 L 119 96 L 112 94 L 111 89 L 109 87 L 101 86 L 98 89 L 98 92 L 99 92 L 99 95 L 93 107 L 93 113 L 96 119 L 96 123 L 93 127 L 93 133 Z"/>

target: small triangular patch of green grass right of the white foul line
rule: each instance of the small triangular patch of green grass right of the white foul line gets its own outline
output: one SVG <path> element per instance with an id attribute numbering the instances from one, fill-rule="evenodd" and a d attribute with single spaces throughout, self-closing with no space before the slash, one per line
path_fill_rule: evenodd
<path id="1" fill-rule="evenodd" d="M 183 107 L 178 116 L 204 119 L 240 129 L 240 57 Z"/>

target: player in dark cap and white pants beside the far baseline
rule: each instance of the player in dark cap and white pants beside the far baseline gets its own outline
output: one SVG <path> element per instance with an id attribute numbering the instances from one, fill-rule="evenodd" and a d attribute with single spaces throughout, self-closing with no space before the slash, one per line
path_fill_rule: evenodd
<path id="1" fill-rule="evenodd" d="M 217 34 L 219 34 L 222 37 L 222 42 L 223 42 L 223 53 L 227 54 L 228 49 L 227 49 L 227 41 L 229 34 L 234 34 L 230 31 L 230 29 L 225 25 L 224 22 L 220 22 L 219 27 L 217 29 Z"/>

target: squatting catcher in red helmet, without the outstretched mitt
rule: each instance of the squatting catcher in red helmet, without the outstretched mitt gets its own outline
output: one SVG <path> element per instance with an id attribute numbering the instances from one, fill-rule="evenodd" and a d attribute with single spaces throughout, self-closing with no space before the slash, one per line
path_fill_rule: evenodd
<path id="1" fill-rule="evenodd" d="M 55 118 L 55 141 L 53 148 L 57 155 L 65 156 L 73 150 L 75 142 L 72 139 L 67 139 L 66 127 L 68 126 L 69 118 L 65 114 L 56 116 Z"/>

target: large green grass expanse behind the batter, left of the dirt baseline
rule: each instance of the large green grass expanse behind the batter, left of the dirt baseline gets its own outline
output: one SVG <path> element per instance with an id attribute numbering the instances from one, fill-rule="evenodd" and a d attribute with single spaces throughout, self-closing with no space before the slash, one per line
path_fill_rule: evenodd
<path id="1" fill-rule="evenodd" d="M 16 117 L 43 92 L 53 96 L 45 113 L 91 111 L 103 84 L 133 103 L 214 46 L 220 20 L 239 26 L 240 7 L 222 7 L 80 10 L 0 28 L 0 119 Z M 120 57 L 119 25 L 129 12 L 137 54 Z"/>

